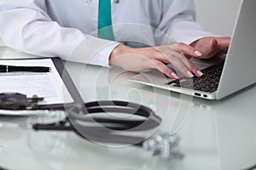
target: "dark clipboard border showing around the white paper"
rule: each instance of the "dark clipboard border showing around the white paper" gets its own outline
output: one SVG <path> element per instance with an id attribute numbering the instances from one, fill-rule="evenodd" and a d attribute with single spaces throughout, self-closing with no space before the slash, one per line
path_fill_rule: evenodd
<path id="1" fill-rule="evenodd" d="M 72 78 L 69 76 L 68 71 L 65 68 L 65 65 L 64 65 L 65 61 L 63 61 L 59 57 L 54 57 L 54 58 L 31 58 L 31 59 L 35 59 L 36 61 L 39 61 L 39 63 L 40 63 L 40 59 L 51 59 L 52 63 L 55 66 L 55 70 L 58 72 L 59 76 L 61 77 L 61 81 L 62 81 L 61 83 L 63 83 L 65 85 L 65 88 L 67 88 L 67 93 L 73 99 L 73 102 L 69 102 L 69 103 L 65 103 L 64 100 L 63 100 L 63 103 L 57 103 L 57 104 L 47 104 L 47 105 L 38 104 L 37 105 L 37 110 L 55 111 L 55 110 L 63 110 L 66 107 L 69 107 L 71 105 L 78 104 L 78 103 L 84 105 L 84 100 L 80 96 L 79 91 L 75 87 Z M 13 60 L 22 60 L 22 61 L 24 61 L 24 60 L 27 60 L 27 59 L 1 59 L 1 60 L 5 60 L 5 61 L 7 61 L 7 60 L 12 60 L 12 61 Z M 11 114 L 6 114 L 6 115 L 11 115 Z"/>

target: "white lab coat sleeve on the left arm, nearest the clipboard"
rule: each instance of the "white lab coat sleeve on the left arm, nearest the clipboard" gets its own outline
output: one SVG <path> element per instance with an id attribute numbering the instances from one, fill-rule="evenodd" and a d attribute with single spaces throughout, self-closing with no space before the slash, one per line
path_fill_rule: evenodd
<path id="1" fill-rule="evenodd" d="M 8 47 L 28 54 L 106 66 L 119 44 L 61 27 L 34 0 L 1 0 L 0 36 Z"/>

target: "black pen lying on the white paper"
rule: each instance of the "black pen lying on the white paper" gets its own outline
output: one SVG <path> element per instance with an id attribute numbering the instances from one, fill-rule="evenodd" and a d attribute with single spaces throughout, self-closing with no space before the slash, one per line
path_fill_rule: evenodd
<path id="1" fill-rule="evenodd" d="M 49 72 L 50 67 L 47 67 L 47 66 L 0 65 L 0 72 L 14 72 L 14 71 Z"/>

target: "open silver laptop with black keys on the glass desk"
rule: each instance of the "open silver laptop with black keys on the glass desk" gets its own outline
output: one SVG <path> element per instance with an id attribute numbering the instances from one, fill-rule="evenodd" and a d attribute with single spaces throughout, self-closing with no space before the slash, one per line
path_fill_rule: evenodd
<path id="1" fill-rule="evenodd" d="M 222 99 L 254 84 L 256 82 L 255 8 L 255 0 L 241 1 L 230 48 L 225 56 L 192 59 L 192 62 L 204 73 L 203 77 L 182 77 L 173 80 L 160 71 L 150 70 L 130 77 L 129 80 L 203 99 Z"/>

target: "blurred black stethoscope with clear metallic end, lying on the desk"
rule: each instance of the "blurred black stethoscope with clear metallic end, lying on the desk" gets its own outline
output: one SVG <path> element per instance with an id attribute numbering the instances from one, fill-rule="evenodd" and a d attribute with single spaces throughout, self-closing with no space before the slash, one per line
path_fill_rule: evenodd
<path id="1" fill-rule="evenodd" d="M 23 94 L 0 94 L 0 111 L 41 111 L 47 116 L 57 113 L 61 115 L 60 120 L 33 122 L 32 129 L 72 131 L 94 143 L 143 147 L 153 156 L 168 160 L 183 157 L 177 150 L 179 139 L 176 135 L 164 133 L 145 137 L 145 133 L 153 131 L 162 122 L 160 116 L 145 105 L 119 100 L 38 105 L 39 100 L 42 99 L 37 96 L 26 98 Z"/>

